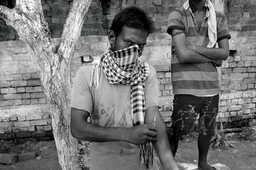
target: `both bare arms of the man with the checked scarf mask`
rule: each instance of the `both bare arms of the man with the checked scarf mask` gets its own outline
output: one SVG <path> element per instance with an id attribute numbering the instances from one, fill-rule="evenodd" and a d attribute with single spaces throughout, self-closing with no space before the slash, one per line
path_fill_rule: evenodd
<path id="1" fill-rule="evenodd" d="M 156 114 L 156 127 L 152 122 Z M 90 114 L 83 110 L 71 108 L 70 130 L 73 137 L 92 142 L 125 141 L 132 144 L 152 142 L 160 162 L 166 170 L 178 170 L 170 150 L 165 123 L 158 107 L 147 108 L 145 125 L 134 127 L 100 127 L 87 122 Z"/>

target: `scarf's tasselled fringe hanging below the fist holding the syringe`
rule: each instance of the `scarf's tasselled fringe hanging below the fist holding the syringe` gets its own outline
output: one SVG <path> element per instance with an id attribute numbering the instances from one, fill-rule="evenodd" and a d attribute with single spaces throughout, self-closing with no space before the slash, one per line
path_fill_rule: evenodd
<path id="1" fill-rule="evenodd" d="M 150 143 L 138 145 L 138 150 L 141 155 L 141 164 L 146 165 L 146 169 L 148 169 L 148 165 L 151 163 L 154 166 L 153 160 L 153 146 Z"/>

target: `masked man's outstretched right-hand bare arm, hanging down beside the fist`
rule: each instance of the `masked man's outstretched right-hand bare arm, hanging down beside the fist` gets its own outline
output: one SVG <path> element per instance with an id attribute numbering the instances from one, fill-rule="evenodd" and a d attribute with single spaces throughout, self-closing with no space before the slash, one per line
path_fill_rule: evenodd
<path id="1" fill-rule="evenodd" d="M 145 123 L 152 124 L 156 112 L 156 142 L 152 142 L 154 149 L 160 159 L 161 165 L 164 170 L 178 170 L 178 165 L 174 160 L 172 151 L 169 146 L 166 127 L 163 118 L 161 117 L 158 107 L 150 107 L 147 109 L 145 116 Z"/>

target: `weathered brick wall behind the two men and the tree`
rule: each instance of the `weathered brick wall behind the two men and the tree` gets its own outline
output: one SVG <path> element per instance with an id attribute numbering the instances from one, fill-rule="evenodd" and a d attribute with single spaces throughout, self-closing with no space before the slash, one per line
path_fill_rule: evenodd
<path id="1" fill-rule="evenodd" d="M 66 4 L 68 3 L 68 1 L 65 2 Z M 58 3 L 53 3 L 49 0 L 42 1 L 43 4 L 48 4 L 49 6 L 48 10 L 44 6 L 45 17 L 47 13 L 51 13 L 50 11 L 53 10 L 53 4 L 61 6 L 65 2 L 64 0 L 59 0 Z M 148 37 L 141 60 L 153 65 L 157 71 L 159 99 L 163 106 L 160 111 L 166 126 L 169 127 L 173 109 L 170 74 L 171 37 L 165 32 L 170 11 L 181 6 L 184 1 L 175 0 L 170 3 L 169 0 L 111 0 L 107 2 L 95 0 L 90 7 L 91 12 L 87 14 L 87 17 L 101 16 L 101 20 L 91 20 L 89 17 L 86 21 L 87 23 L 85 22 L 85 26 L 89 20 L 92 24 L 100 23 L 101 26 L 95 26 L 97 29 L 92 29 L 92 32 L 95 31 L 94 33 L 82 33 L 82 35 L 91 36 L 79 38 L 72 61 L 72 79 L 77 70 L 85 64 L 82 63 L 81 56 L 90 55 L 93 59 L 96 59 L 108 48 L 108 37 L 102 35 L 106 35 L 114 15 L 120 9 L 128 6 L 127 4 L 136 4 L 148 11 L 156 24 L 156 31 Z M 256 8 L 253 8 L 256 2 L 247 0 L 243 1 L 243 3 L 243 8 L 238 1 L 228 1 L 227 3 L 228 24 L 232 36 L 229 41 L 231 51 L 228 60 L 223 62 L 221 68 L 218 68 L 221 94 L 220 110 L 217 116 L 217 121 L 223 122 L 225 128 L 256 123 L 256 30 L 252 29 L 253 25 L 255 25 L 255 22 L 252 21 L 256 20 L 254 11 Z M 238 10 L 233 10 L 235 6 L 239 6 L 239 9 L 241 9 L 241 15 L 238 16 L 238 12 L 236 12 Z M 65 11 L 64 9 L 68 10 L 68 7 L 58 9 Z M 63 13 L 63 15 L 58 14 L 56 11 L 55 13 L 59 16 L 52 15 L 46 18 L 51 18 L 51 21 L 58 22 L 52 22 L 49 25 L 61 25 L 61 22 L 59 22 L 61 17 L 65 18 L 63 12 L 59 12 Z M 246 25 L 248 24 L 250 25 L 250 30 L 243 29 L 247 28 Z M 242 27 L 237 25 L 242 25 Z M 85 26 L 83 30 L 88 32 L 91 26 L 87 25 L 87 28 Z M 52 26 L 52 28 L 55 27 Z M 58 31 L 60 35 L 62 29 L 58 30 L 56 28 L 52 30 L 52 35 Z M 104 33 L 99 30 L 104 31 Z M 99 32 L 102 34 L 99 34 Z M 0 31 L 0 34 L 4 33 Z M 7 36 L 8 34 L 4 35 Z M 53 37 L 58 37 L 58 34 L 56 33 L 56 36 Z M 59 38 L 54 38 L 53 41 L 56 44 Z M 0 139 L 51 136 L 49 108 L 46 104 L 44 92 L 42 92 L 40 79 L 28 58 L 27 48 L 19 40 L 0 42 L 0 47 Z M 198 130 L 198 121 L 195 123 L 194 130 Z"/>

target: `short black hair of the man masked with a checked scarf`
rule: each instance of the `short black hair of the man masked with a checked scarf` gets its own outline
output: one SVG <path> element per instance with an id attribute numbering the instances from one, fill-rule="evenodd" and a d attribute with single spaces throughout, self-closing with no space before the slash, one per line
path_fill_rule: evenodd
<path id="1" fill-rule="evenodd" d="M 115 15 L 110 30 L 119 35 L 123 26 L 142 28 L 151 34 L 154 30 L 154 22 L 148 14 L 139 7 L 129 6 Z"/>

